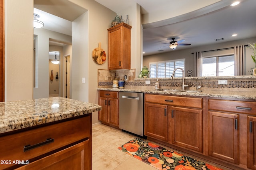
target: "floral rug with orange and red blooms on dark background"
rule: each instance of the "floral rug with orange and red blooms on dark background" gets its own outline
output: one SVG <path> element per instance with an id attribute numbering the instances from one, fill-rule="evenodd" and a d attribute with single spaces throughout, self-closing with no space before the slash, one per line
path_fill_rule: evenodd
<path id="1" fill-rule="evenodd" d="M 222 170 L 139 138 L 127 142 L 118 149 L 159 170 Z"/>

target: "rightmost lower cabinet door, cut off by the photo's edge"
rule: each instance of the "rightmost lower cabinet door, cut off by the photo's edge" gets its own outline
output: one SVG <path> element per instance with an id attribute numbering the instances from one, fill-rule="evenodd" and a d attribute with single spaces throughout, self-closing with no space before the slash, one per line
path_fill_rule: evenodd
<path id="1" fill-rule="evenodd" d="M 247 166 L 256 170 L 256 116 L 248 116 L 247 122 Z"/>

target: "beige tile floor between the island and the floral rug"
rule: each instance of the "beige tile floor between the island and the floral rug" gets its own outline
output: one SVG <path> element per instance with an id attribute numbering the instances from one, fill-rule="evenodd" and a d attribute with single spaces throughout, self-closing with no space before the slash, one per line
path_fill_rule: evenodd
<path id="1" fill-rule="evenodd" d="M 133 135 L 103 124 L 93 125 L 92 170 L 156 170 L 156 168 L 118 150 L 118 147 L 134 138 Z"/>

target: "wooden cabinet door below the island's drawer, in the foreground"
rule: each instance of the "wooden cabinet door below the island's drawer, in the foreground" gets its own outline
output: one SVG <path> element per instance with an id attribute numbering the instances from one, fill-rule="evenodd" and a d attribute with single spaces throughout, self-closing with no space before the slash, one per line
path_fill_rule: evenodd
<path id="1" fill-rule="evenodd" d="M 91 155 L 88 155 L 89 139 L 61 150 L 42 159 L 31 162 L 17 170 L 90 170 Z"/>

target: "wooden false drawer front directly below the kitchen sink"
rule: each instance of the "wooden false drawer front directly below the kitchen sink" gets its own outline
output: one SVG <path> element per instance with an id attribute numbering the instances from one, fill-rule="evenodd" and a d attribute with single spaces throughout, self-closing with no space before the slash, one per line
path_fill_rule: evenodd
<path id="1" fill-rule="evenodd" d="M 145 102 L 167 104 L 172 106 L 184 106 L 184 107 L 203 107 L 202 98 L 188 98 L 179 96 L 163 96 L 155 94 L 145 94 Z"/>

